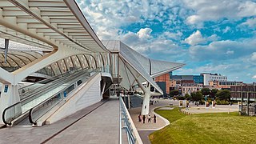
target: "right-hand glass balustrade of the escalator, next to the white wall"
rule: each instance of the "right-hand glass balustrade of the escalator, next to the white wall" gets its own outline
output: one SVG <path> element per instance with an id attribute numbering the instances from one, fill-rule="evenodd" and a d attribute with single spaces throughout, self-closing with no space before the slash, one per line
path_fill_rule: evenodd
<path id="1" fill-rule="evenodd" d="M 98 74 L 98 70 L 93 70 L 91 72 L 96 72 L 94 75 Z M 90 78 L 93 78 L 94 75 L 92 75 Z M 82 83 L 86 82 L 89 77 L 83 77 L 79 78 L 76 82 L 73 84 L 66 86 L 63 90 L 58 91 L 56 94 L 54 94 L 52 97 L 46 99 L 45 101 L 38 104 L 38 106 L 35 106 L 34 108 L 30 109 L 29 114 L 29 120 L 30 123 L 37 125 L 38 119 L 42 118 L 43 115 L 45 115 L 47 112 L 49 112 L 54 106 L 58 105 L 59 102 L 62 102 L 62 100 L 66 97 L 68 97 L 68 94 L 70 94 L 76 87 L 80 86 Z"/>

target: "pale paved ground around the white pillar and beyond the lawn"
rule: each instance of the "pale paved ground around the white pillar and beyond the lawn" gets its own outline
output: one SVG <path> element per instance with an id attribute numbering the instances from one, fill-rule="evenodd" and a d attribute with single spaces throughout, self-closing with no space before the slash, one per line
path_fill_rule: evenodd
<path id="1" fill-rule="evenodd" d="M 170 99 L 158 99 L 154 98 L 151 99 L 154 101 L 154 105 L 150 106 L 150 116 L 154 116 L 154 109 L 157 107 L 162 107 L 162 106 L 170 106 L 172 104 L 173 106 L 178 106 L 179 102 L 170 100 Z M 155 101 L 158 101 L 158 103 L 155 103 Z M 201 113 L 222 113 L 222 112 L 233 112 L 233 111 L 238 111 L 238 105 L 233 105 L 233 106 L 222 106 L 222 105 L 217 105 L 216 108 L 208 108 L 206 109 L 204 105 L 199 105 L 195 106 L 194 104 L 190 103 L 190 109 L 186 110 L 190 113 L 193 114 L 201 114 Z M 163 107 L 162 109 L 170 110 L 170 108 Z M 182 110 L 185 110 L 183 108 Z M 162 118 L 161 116 L 157 115 L 157 122 L 153 122 L 153 118 L 151 119 L 151 122 L 147 122 L 147 115 L 146 115 L 146 122 L 138 122 L 138 114 L 141 113 L 141 107 L 138 108 L 132 108 L 129 110 L 130 116 L 132 117 L 134 121 L 134 125 L 136 126 L 138 133 L 140 134 L 142 138 L 142 142 L 144 144 L 150 144 L 150 140 L 148 136 L 153 133 L 155 130 L 160 130 L 164 126 L 169 125 L 169 122 L 165 119 Z"/>

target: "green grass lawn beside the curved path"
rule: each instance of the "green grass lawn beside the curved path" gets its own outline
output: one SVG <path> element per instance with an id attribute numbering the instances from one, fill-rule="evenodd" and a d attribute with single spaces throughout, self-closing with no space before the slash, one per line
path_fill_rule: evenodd
<path id="1" fill-rule="evenodd" d="M 151 143 L 256 143 L 256 117 L 236 113 L 185 115 L 174 110 L 155 110 L 170 122 L 150 134 Z"/>

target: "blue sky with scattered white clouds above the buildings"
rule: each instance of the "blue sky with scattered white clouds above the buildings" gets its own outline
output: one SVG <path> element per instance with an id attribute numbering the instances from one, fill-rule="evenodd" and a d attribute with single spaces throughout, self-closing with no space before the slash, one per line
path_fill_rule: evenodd
<path id="1" fill-rule="evenodd" d="M 147 57 L 256 82 L 256 0 L 77 0 L 101 39 L 118 39 Z"/>

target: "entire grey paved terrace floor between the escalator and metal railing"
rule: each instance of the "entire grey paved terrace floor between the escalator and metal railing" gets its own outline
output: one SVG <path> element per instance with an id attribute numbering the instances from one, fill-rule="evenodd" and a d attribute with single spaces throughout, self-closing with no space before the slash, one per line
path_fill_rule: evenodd
<path id="1" fill-rule="evenodd" d="M 98 102 L 51 125 L 0 129 L 0 143 L 118 143 L 118 112 L 118 99 Z"/>

